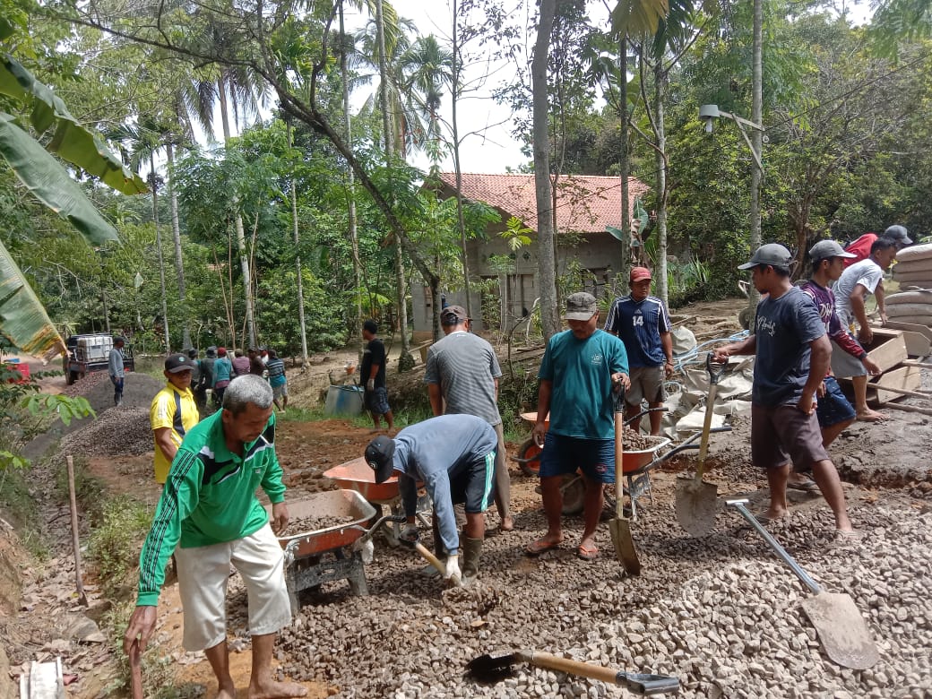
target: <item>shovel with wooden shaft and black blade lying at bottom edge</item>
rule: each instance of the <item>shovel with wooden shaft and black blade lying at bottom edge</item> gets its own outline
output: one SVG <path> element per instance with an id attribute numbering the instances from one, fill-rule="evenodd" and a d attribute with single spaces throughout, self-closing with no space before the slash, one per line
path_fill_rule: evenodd
<path id="1" fill-rule="evenodd" d="M 494 682 L 509 677 L 514 672 L 517 663 L 528 663 L 537 667 L 546 667 L 548 670 L 558 670 L 569 675 L 583 678 L 601 679 L 609 684 L 617 684 L 630 692 L 642 696 L 678 692 L 678 678 L 666 675 L 644 675 L 635 672 L 621 672 L 602 665 L 580 663 L 568 658 L 561 658 L 550 653 L 536 651 L 514 651 L 507 655 L 491 656 L 480 655 L 473 658 L 467 665 L 467 672 L 474 678 L 485 682 Z"/>

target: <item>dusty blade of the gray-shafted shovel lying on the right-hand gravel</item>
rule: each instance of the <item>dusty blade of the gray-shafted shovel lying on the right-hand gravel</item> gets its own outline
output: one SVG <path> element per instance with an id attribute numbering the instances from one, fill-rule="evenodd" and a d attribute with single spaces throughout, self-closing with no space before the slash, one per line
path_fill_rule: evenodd
<path id="1" fill-rule="evenodd" d="M 803 600 L 802 610 L 834 663 L 856 670 L 876 665 L 877 645 L 850 595 L 823 590 Z"/>

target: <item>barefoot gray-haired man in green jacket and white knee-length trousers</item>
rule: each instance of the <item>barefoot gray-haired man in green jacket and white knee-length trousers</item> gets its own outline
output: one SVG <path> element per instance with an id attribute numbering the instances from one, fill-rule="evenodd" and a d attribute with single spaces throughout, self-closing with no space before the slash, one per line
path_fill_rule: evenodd
<path id="1" fill-rule="evenodd" d="M 239 570 L 249 593 L 253 638 L 249 695 L 307 693 L 300 685 L 273 681 L 271 675 L 275 634 L 291 624 L 283 556 L 274 533 L 287 526 L 288 509 L 275 455 L 272 412 L 267 381 L 237 377 L 226 389 L 223 410 L 185 434 L 145 539 L 136 609 L 123 638 L 127 654 L 145 650 L 156 628 L 165 564 L 174 552 L 185 610 L 185 649 L 204 651 L 217 678 L 219 699 L 236 696 L 226 649 L 230 565 Z M 255 497 L 260 486 L 272 502 L 271 522 Z"/>

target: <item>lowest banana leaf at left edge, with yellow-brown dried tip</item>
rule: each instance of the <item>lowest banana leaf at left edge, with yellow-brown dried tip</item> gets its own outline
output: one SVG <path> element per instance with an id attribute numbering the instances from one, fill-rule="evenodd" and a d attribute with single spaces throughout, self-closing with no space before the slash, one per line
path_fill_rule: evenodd
<path id="1" fill-rule="evenodd" d="M 46 309 L 0 242 L 0 335 L 24 352 L 48 362 L 65 351 L 64 340 Z"/>

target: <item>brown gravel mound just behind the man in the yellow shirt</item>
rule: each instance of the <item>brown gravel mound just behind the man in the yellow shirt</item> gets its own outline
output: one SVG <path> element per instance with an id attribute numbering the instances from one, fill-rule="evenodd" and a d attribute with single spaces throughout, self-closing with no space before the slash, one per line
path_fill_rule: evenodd
<path id="1" fill-rule="evenodd" d="M 148 408 L 121 405 L 107 408 L 82 429 L 65 435 L 60 451 L 73 456 L 99 457 L 138 456 L 152 449 Z"/>

